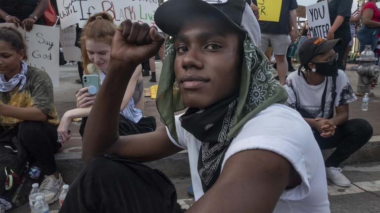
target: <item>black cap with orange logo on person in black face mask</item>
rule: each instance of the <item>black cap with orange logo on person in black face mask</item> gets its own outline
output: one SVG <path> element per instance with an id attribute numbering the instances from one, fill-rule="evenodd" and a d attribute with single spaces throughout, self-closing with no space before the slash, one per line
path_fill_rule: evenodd
<path id="1" fill-rule="evenodd" d="M 337 45 L 342 43 L 342 39 L 326 40 L 321 37 L 312 37 L 307 39 L 299 48 L 298 57 L 301 66 L 298 71 L 302 69 L 314 56 L 331 50 Z"/>

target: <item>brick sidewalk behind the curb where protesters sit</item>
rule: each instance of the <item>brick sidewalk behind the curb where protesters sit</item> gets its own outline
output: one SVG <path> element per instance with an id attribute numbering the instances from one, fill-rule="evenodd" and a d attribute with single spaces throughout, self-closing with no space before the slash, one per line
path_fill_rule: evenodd
<path id="1" fill-rule="evenodd" d="M 157 80 L 159 80 L 161 66 L 159 60 L 156 61 L 156 72 Z M 356 71 L 350 71 L 350 68 L 354 66 L 352 64 L 347 64 L 346 74 L 351 82 L 352 88 L 356 91 L 356 85 L 358 81 L 358 74 Z M 294 66 L 296 67 L 296 66 Z M 54 88 L 54 100 L 55 106 L 57 108 L 58 114 L 62 116 L 65 111 L 76 107 L 75 103 L 75 92 L 81 88 L 81 84 L 75 83 L 75 79 L 78 79 L 78 71 L 76 66 L 61 66 L 60 67 L 60 87 Z M 148 88 L 155 83 L 149 82 L 150 76 L 143 77 L 144 88 Z M 157 82 L 158 84 L 158 82 Z M 375 97 L 371 97 L 369 110 L 362 111 L 361 108 L 361 97 L 358 100 L 350 103 L 349 105 L 349 116 L 350 118 L 364 118 L 368 120 L 374 128 L 374 136 L 380 136 L 380 85 L 377 85 L 371 90 Z M 157 126 L 163 125 L 160 121 L 159 113 L 156 108 L 155 100 L 150 99 L 150 97 L 145 97 L 145 116 L 154 116 L 156 118 Z M 80 122 L 73 123 L 70 126 L 70 131 L 72 132 L 72 138 L 56 155 L 58 159 L 76 159 L 81 156 L 81 146 L 82 141 L 79 135 Z M 374 137 L 375 141 L 380 141 L 377 139 L 379 137 Z"/>

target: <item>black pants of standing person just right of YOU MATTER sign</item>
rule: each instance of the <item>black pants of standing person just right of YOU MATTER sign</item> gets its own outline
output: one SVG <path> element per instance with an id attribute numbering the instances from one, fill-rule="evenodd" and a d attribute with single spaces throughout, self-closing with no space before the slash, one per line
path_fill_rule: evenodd
<path id="1" fill-rule="evenodd" d="M 346 53 L 346 49 L 348 47 L 348 44 L 351 41 L 351 31 L 350 31 L 350 24 L 348 22 L 343 22 L 342 25 L 335 31 L 334 33 L 334 39 L 342 39 L 342 43 L 340 45 L 337 45 L 334 47 L 335 53 L 338 53 L 338 69 L 345 71 L 345 65 L 343 64 L 343 57 Z"/>

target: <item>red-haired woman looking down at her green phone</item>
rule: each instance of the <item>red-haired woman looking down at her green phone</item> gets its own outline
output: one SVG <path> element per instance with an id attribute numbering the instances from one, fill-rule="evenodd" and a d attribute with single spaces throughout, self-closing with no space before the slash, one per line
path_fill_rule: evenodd
<path id="1" fill-rule="evenodd" d="M 112 17 L 106 12 L 96 13 L 91 16 L 83 28 L 80 38 L 82 47 L 83 65 L 85 74 L 96 74 L 102 83 L 108 72 L 112 37 L 116 26 Z M 119 134 L 134 135 L 152 132 L 156 129 L 154 117 L 142 117 L 144 107 L 142 68 L 138 66 L 133 72 L 131 80 L 126 82 L 123 102 L 119 115 Z M 83 137 L 87 116 L 95 102 L 96 95 L 88 93 L 88 87 L 82 88 L 77 94 L 77 107 L 71 109 L 62 116 L 58 127 L 58 137 L 61 142 L 67 142 L 70 137 L 68 130 L 73 118 L 83 117 L 79 133 Z M 135 104 L 136 103 L 136 104 Z"/>

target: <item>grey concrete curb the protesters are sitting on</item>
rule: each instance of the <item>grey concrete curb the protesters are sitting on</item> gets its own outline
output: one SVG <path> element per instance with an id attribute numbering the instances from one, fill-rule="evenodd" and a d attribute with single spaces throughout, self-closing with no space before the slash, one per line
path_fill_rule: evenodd
<path id="1" fill-rule="evenodd" d="M 326 159 L 334 149 L 323 150 Z M 342 165 L 380 161 L 380 136 L 373 136 L 371 140 L 350 156 Z M 64 181 L 71 183 L 85 167 L 81 159 L 81 152 L 57 153 L 55 155 L 58 172 L 63 174 Z M 161 170 L 170 178 L 190 177 L 189 158 L 187 150 L 172 156 L 145 163 L 151 168 Z"/>

